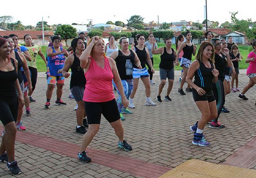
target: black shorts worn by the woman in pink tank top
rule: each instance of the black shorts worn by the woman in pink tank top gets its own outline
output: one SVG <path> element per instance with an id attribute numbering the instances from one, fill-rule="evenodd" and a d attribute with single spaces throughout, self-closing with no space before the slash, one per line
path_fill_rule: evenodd
<path id="1" fill-rule="evenodd" d="M 101 114 L 109 123 L 120 119 L 116 99 L 101 103 L 85 101 L 85 112 L 88 124 L 100 124 Z"/>

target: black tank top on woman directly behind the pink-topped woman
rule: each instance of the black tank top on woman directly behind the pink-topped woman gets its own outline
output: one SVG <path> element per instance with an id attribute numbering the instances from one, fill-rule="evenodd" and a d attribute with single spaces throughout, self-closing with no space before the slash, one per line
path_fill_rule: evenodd
<path id="1" fill-rule="evenodd" d="M 80 66 L 80 60 L 75 55 L 75 52 L 73 52 L 74 55 L 74 62 L 71 65 L 71 79 L 70 79 L 70 89 L 72 89 L 74 86 L 83 86 L 85 87 L 86 79 L 84 74 L 84 69 Z"/>

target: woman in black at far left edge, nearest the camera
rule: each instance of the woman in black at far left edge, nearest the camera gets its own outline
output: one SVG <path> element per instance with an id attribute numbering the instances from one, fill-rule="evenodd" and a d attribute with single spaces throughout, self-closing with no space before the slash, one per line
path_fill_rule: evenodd
<path id="1" fill-rule="evenodd" d="M 15 161 L 14 147 L 16 138 L 15 121 L 17 118 L 18 102 L 24 105 L 17 76 L 17 61 L 10 58 L 10 46 L 5 38 L 0 37 L 0 120 L 5 126 L 5 134 L 0 146 L 2 161 L 7 162 L 11 173 L 20 174 L 21 170 Z M 18 97 L 16 95 L 18 91 Z M 8 138 L 8 140 L 5 140 Z M 8 155 L 6 154 L 6 151 Z M 15 172 L 13 169 L 16 168 Z"/>

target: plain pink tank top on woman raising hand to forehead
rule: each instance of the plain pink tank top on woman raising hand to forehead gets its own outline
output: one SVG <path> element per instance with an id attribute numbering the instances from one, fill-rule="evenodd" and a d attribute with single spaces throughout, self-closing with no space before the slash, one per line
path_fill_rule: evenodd
<path id="1" fill-rule="evenodd" d="M 90 58 L 90 67 L 85 73 L 86 85 L 83 100 L 99 103 L 115 99 L 112 86 L 114 75 L 108 58 L 105 57 L 104 68 L 100 68 L 95 60 L 92 57 Z"/>

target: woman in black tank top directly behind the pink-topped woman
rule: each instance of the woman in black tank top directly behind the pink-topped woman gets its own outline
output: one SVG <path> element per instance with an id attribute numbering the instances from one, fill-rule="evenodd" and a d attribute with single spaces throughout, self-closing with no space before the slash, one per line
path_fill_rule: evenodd
<path id="1" fill-rule="evenodd" d="M 85 132 L 87 131 L 85 129 L 85 126 L 88 127 L 88 123 L 87 123 L 87 120 L 84 119 L 86 116 L 86 113 L 85 113 L 84 101 L 82 99 L 83 99 L 83 94 L 85 90 L 86 80 L 85 80 L 84 70 L 83 68 L 80 67 L 80 60 L 79 60 L 82 52 L 85 50 L 85 44 L 82 38 L 77 37 L 72 40 L 71 46 L 73 48 L 73 53 L 70 54 L 68 58 L 66 58 L 64 67 L 61 72 L 65 78 L 68 78 L 70 75 L 68 71 L 69 71 L 69 68 L 71 68 L 72 75 L 70 80 L 70 89 L 71 91 L 73 91 L 72 94 L 74 95 L 75 101 L 78 105 L 78 108 L 75 111 L 76 122 L 77 122 L 76 132 L 85 134 Z M 79 93 L 80 95 L 78 95 L 77 93 Z"/>

